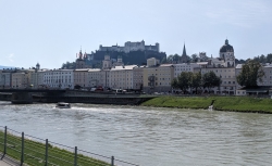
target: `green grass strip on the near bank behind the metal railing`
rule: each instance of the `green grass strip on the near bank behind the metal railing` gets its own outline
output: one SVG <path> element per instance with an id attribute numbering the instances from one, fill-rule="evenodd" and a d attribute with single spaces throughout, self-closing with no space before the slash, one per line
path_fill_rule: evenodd
<path id="1" fill-rule="evenodd" d="M 0 131 L 0 151 L 3 152 L 3 142 L 4 133 Z M 22 141 L 20 137 L 9 135 L 7 136 L 7 154 L 17 161 L 21 161 L 21 150 Z M 45 154 L 46 154 L 46 144 L 27 140 L 24 141 L 24 163 L 30 166 L 44 166 L 45 165 Z M 26 155 L 27 154 L 27 155 Z M 29 156 L 30 155 L 30 156 Z M 59 149 L 57 146 L 49 145 L 48 148 L 48 162 L 49 165 L 59 165 L 59 166 L 73 166 L 74 165 L 74 153 Z M 61 161 L 61 159 L 63 161 Z M 66 161 L 66 162 L 65 162 Z M 109 159 L 110 162 L 110 159 Z M 78 154 L 77 155 L 77 165 L 81 166 L 109 166 L 104 162 Z"/>

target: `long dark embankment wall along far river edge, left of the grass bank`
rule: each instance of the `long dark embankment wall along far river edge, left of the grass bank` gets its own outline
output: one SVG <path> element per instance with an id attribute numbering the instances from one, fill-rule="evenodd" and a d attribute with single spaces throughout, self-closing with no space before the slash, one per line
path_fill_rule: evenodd
<path id="1" fill-rule="evenodd" d="M 16 95 L 17 97 L 17 95 Z M 48 93 L 33 93 L 30 94 L 32 102 L 40 103 L 91 103 L 91 104 L 116 104 L 116 105 L 138 105 L 145 101 L 148 101 L 154 97 L 140 97 L 140 94 L 135 93 L 95 93 L 89 91 L 66 91 L 65 93 L 48 92 Z M 23 98 L 23 95 L 22 95 Z M 20 98 L 20 103 L 29 103 L 29 98 L 22 102 Z M 0 93 L 0 101 L 11 101 L 12 103 L 18 103 L 12 93 Z"/>

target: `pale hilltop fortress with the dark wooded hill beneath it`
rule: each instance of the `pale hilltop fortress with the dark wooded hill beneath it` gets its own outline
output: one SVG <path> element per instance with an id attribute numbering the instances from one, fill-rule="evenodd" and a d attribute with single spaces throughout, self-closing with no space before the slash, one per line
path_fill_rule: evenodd
<path id="1" fill-rule="evenodd" d="M 157 42 L 153 46 L 146 46 L 145 41 L 125 42 L 124 46 L 99 46 L 99 50 L 90 53 L 83 53 L 82 50 L 76 54 L 75 65 L 67 64 L 63 68 L 101 68 L 104 56 L 109 56 L 111 63 L 118 63 L 122 59 L 124 65 L 143 65 L 147 59 L 156 58 L 159 61 L 166 59 L 165 52 L 160 52 L 160 44 Z M 69 66 L 70 65 L 70 66 Z"/>

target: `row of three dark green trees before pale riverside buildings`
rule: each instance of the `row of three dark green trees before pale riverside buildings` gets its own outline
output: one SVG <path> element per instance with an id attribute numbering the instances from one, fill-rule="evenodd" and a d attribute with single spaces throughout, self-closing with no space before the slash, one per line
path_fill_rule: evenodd
<path id="1" fill-rule="evenodd" d="M 208 88 L 208 91 L 210 91 L 211 88 L 219 87 L 221 82 L 221 78 L 214 72 L 206 73 L 203 76 L 201 76 L 200 72 L 183 72 L 171 81 L 171 86 L 174 89 L 181 89 L 184 93 L 186 93 L 187 89 L 190 89 L 190 93 L 193 93 L 193 89 L 198 93 L 199 88 Z"/>

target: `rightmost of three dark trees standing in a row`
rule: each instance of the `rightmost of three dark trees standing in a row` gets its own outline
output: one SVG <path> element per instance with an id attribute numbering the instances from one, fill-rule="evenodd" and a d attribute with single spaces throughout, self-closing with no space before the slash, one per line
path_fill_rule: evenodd
<path id="1" fill-rule="evenodd" d="M 203 88 L 208 88 L 209 92 L 211 88 L 219 87 L 222 80 L 218 77 L 214 72 L 208 72 L 202 77 Z"/>

